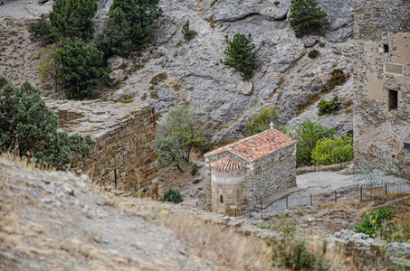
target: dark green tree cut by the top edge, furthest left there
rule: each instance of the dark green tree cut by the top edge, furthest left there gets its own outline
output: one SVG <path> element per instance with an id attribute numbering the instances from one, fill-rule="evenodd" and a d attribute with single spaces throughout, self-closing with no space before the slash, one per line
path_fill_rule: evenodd
<path id="1" fill-rule="evenodd" d="M 95 0 L 56 0 L 52 5 L 52 26 L 66 38 L 87 38 L 97 12 Z"/>

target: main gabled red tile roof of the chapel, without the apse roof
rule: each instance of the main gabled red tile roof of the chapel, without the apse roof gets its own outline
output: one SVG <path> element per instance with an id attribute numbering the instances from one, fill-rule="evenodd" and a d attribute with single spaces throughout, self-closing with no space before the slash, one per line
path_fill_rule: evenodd
<path id="1" fill-rule="evenodd" d="M 296 141 L 291 139 L 291 137 L 272 128 L 260 134 L 245 137 L 230 145 L 224 145 L 204 156 L 211 156 L 223 151 L 229 151 L 252 162 L 266 154 L 271 154 L 294 143 L 296 143 Z"/>

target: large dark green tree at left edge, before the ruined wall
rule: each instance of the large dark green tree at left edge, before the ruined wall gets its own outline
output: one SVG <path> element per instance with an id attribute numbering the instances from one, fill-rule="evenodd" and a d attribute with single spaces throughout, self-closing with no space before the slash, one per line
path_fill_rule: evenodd
<path id="1" fill-rule="evenodd" d="M 12 151 L 64 169 L 71 154 L 90 154 L 91 137 L 57 132 L 58 117 L 29 82 L 14 88 L 0 77 L 0 152 Z"/>

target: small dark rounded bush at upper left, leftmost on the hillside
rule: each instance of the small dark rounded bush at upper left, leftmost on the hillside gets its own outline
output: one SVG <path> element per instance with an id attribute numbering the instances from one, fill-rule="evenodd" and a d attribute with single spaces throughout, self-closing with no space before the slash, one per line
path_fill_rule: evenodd
<path id="1" fill-rule="evenodd" d="M 42 14 L 38 22 L 30 24 L 28 32 L 31 34 L 32 41 L 40 41 L 43 44 L 58 42 L 62 38 L 61 33 L 58 32 L 56 27 L 52 26 L 45 14 Z"/>

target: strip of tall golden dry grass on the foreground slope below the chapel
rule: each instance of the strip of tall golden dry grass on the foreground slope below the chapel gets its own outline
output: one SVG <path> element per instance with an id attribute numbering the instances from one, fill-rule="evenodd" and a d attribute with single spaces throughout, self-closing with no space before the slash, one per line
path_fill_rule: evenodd
<path id="1" fill-rule="evenodd" d="M 171 229 L 197 257 L 233 270 L 273 270 L 272 249 L 260 238 L 243 237 L 186 215 L 151 213 L 155 215 L 148 219 Z"/>

